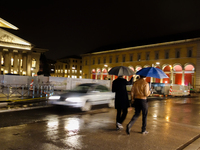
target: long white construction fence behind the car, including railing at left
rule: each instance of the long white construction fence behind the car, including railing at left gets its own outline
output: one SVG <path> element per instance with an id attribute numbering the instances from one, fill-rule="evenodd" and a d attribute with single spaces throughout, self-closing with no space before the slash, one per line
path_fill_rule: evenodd
<path id="1" fill-rule="evenodd" d="M 110 80 L 16 75 L 0 75 L 0 81 L 0 100 L 15 97 L 44 97 L 52 95 L 54 90 L 71 90 L 82 83 L 99 83 L 109 89 L 112 84 Z"/>

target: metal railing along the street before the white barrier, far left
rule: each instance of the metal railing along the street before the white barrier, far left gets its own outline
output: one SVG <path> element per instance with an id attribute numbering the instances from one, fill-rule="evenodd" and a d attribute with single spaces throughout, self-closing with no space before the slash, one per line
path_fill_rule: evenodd
<path id="1" fill-rule="evenodd" d="M 0 98 L 47 97 L 54 93 L 53 84 L 0 84 Z"/>

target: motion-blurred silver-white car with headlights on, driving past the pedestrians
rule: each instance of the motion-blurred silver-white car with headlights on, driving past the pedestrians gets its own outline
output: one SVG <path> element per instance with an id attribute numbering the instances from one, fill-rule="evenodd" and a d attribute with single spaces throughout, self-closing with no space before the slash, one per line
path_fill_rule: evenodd
<path id="1" fill-rule="evenodd" d="M 92 105 L 108 104 L 109 107 L 114 107 L 114 98 L 115 93 L 109 91 L 106 86 L 96 83 L 85 83 L 76 86 L 67 93 L 50 96 L 49 103 L 89 111 Z"/>

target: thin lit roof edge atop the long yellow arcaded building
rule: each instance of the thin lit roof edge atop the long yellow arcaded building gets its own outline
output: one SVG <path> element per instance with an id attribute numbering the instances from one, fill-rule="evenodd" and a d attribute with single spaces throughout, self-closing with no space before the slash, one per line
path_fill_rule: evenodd
<path id="1" fill-rule="evenodd" d="M 148 45 L 134 46 L 134 47 L 128 47 L 128 48 L 120 48 L 120 49 L 114 49 L 114 50 L 106 50 L 106 51 L 100 51 L 100 52 L 86 53 L 86 54 L 82 54 L 82 56 L 88 55 L 88 54 L 94 54 L 95 55 L 95 54 L 110 53 L 110 52 L 116 52 L 116 51 L 127 51 L 127 50 L 133 50 L 133 49 L 164 46 L 164 45 L 170 45 L 170 44 L 180 44 L 180 43 L 193 42 L 193 41 L 200 41 L 200 38 L 185 39 L 185 40 L 178 40 L 178 41 L 171 41 L 171 42 L 163 42 L 163 43 L 148 44 Z"/>

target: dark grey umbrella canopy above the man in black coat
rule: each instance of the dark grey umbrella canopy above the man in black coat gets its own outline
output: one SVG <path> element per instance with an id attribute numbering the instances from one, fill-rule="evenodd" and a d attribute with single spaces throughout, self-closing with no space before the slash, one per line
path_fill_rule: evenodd
<path id="1" fill-rule="evenodd" d="M 135 74 L 133 70 L 125 66 L 113 67 L 112 69 L 110 69 L 108 73 L 109 75 L 116 75 L 116 76 L 131 76 Z"/>

